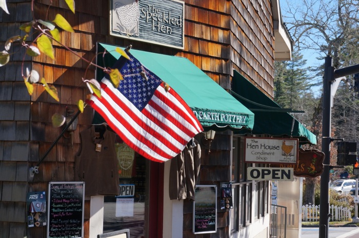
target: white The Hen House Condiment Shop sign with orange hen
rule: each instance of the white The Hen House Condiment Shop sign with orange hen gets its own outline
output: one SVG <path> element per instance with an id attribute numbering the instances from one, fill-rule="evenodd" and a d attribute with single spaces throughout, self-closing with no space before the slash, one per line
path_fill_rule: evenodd
<path id="1" fill-rule="evenodd" d="M 259 164 L 296 164 L 298 139 L 293 138 L 245 138 L 245 162 Z"/>

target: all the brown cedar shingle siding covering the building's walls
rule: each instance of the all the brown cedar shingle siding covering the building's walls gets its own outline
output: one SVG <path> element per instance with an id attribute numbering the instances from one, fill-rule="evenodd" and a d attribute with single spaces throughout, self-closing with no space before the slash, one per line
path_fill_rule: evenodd
<path id="1" fill-rule="evenodd" d="M 0 10 L 0 50 L 9 37 L 21 33 L 19 26 L 32 20 L 30 2 L 7 1 L 10 15 Z M 35 0 L 37 19 L 45 18 L 50 2 Z M 186 0 L 183 51 L 110 36 L 109 1 L 76 1 L 76 14 L 68 10 L 65 1 L 52 2 L 49 19 L 60 13 L 75 30 L 75 33 L 61 31 L 62 43 L 86 59 L 95 56 L 97 41 L 118 46 L 131 44 L 138 50 L 187 57 L 225 89 L 231 88 L 235 69 L 273 96 L 274 36 L 269 0 Z M 11 51 L 19 49 L 20 45 L 15 43 Z M 35 86 L 33 95 L 29 96 L 21 73 L 24 48 L 11 56 L 7 66 L 0 67 L 0 238 L 46 237 L 46 227 L 26 228 L 26 193 L 47 191 L 50 181 L 74 180 L 78 134 L 92 122 L 92 110 L 87 107 L 79 116 L 73 147 L 68 137 L 62 137 L 39 167 L 39 173 L 33 180 L 29 178 L 29 168 L 36 165 L 61 133 L 62 128 L 52 127 L 51 116 L 65 115 L 67 106 L 76 110 L 77 100 L 85 99 L 88 94 L 81 80 L 88 63 L 58 44 L 54 44 L 54 51 L 55 60 L 44 54 L 33 59 L 26 57 L 25 68 L 35 69 L 40 77 L 53 83 L 60 102 L 51 98 L 42 86 Z M 94 78 L 94 75 L 95 69 L 89 67 L 86 78 Z M 200 176 L 202 182 L 219 185 L 221 181 L 230 180 L 231 148 L 229 135 L 216 136 L 222 140 L 212 143 L 210 158 L 203 156 L 205 169 Z M 184 237 L 194 237 L 191 206 L 185 201 Z M 217 237 L 229 237 L 227 212 L 218 210 L 217 215 Z M 88 226 L 86 220 L 85 231 Z"/>

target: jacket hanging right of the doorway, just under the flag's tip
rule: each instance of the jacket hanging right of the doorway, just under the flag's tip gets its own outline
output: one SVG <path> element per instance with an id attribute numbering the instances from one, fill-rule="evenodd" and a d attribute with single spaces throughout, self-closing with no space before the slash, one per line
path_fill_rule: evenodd
<path id="1" fill-rule="evenodd" d="M 184 150 L 171 159 L 169 196 L 171 200 L 194 201 L 194 187 L 200 172 L 201 147 L 192 139 Z"/>

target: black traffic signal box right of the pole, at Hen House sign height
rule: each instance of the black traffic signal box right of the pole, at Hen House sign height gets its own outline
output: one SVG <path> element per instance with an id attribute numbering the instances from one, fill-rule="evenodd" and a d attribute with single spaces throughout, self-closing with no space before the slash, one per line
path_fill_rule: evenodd
<path id="1" fill-rule="evenodd" d="M 354 165 L 356 160 L 356 142 L 341 141 L 337 144 L 337 165 Z"/>

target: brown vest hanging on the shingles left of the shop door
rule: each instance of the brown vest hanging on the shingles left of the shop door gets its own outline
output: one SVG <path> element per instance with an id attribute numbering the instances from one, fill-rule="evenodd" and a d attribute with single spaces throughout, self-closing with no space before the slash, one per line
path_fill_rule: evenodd
<path id="1" fill-rule="evenodd" d="M 101 128 L 102 127 L 102 128 Z M 115 151 L 116 134 L 108 131 L 106 126 L 101 129 L 102 138 L 96 139 L 95 126 L 82 131 L 81 146 L 76 155 L 75 176 L 85 181 L 85 195 L 118 195 L 118 162 Z M 101 151 L 96 151 L 96 144 Z"/>

